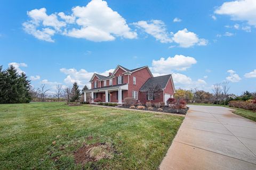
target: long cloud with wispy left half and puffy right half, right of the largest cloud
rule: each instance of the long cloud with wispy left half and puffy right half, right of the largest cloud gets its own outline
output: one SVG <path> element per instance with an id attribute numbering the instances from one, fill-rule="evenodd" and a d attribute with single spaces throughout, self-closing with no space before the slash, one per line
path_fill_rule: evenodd
<path id="1" fill-rule="evenodd" d="M 161 43 L 177 43 L 180 47 L 188 48 L 195 45 L 205 46 L 208 41 L 203 38 L 198 38 L 198 35 L 194 32 L 188 31 L 188 29 L 179 30 L 175 34 L 173 32 L 168 32 L 166 25 L 161 20 L 150 20 L 150 21 L 139 21 L 133 23 L 138 28 L 149 35 L 159 40 Z"/>

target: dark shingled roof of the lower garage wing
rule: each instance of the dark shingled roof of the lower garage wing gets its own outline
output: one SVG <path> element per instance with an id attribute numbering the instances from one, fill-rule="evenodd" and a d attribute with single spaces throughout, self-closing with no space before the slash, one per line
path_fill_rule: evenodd
<path id="1" fill-rule="evenodd" d="M 149 78 L 140 88 L 140 90 L 149 90 L 150 87 L 159 85 L 161 89 L 164 89 L 171 79 L 171 74 L 162 75 L 158 77 Z M 172 80 L 171 80 L 172 81 Z"/>

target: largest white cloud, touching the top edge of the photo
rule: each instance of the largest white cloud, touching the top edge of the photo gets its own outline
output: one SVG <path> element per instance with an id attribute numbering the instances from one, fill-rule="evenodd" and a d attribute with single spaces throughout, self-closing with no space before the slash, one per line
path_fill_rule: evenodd
<path id="1" fill-rule="evenodd" d="M 46 8 L 31 10 L 27 14 L 30 20 L 23 23 L 23 29 L 37 39 L 49 42 L 54 42 L 52 36 L 55 33 L 96 42 L 111 41 L 116 37 L 137 38 L 137 33 L 131 31 L 125 19 L 102 0 L 76 6 L 71 15 L 63 12 L 47 15 Z"/>

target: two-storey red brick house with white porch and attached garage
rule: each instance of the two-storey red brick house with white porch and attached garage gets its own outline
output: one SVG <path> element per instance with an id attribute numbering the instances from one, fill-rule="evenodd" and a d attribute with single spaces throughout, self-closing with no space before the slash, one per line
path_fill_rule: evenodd
<path id="1" fill-rule="evenodd" d="M 163 75 L 153 77 L 148 66 L 139 67 L 137 69 L 126 69 L 121 65 L 117 65 L 113 73 L 108 76 L 94 73 L 91 80 L 91 89 L 86 90 L 86 94 L 91 93 L 92 101 L 100 98 L 102 102 L 122 104 L 126 97 L 132 97 L 138 102 L 153 103 L 164 101 L 173 97 L 175 88 L 172 75 Z M 150 94 L 150 87 L 159 87 L 160 91 L 155 97 Z"/>

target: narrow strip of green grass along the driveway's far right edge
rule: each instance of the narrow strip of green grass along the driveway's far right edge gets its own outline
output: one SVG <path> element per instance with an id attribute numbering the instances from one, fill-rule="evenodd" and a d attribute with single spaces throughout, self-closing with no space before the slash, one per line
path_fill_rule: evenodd
<path id="1" fill-rule="evenodd" d="M 235 108 L 235 107 L 229 107 L 229 106 L 225 106 L 225 105 L 214 105 L 214 104 L 204 104 L 204 103 L 193 103 L 193 104 L 189 104 L 189 105 L 202 105 L 202 106 L 223 106 L 223 107 L 228 107 L 228 108 L 233 108 L 235 109 L 235 111 L 233 111 L 233 113 L 243 116 L 245 118 L 249 118 L 252 121 L 256 122 L 256 112 L 253 111 L 249 111 L 246 109 L 242 109 L 242 108 Z"/>

